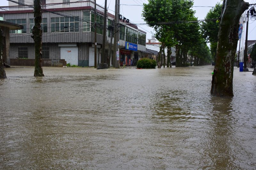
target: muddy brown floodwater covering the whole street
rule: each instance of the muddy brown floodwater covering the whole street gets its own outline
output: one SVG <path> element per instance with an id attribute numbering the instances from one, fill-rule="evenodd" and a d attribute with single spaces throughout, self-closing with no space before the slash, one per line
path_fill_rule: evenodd
<path id="1" fill-rule="evenodd" d="M 210 95 L 213 66 L 6 68 L 0 169 L 255 169 L 256 76 Z"/>

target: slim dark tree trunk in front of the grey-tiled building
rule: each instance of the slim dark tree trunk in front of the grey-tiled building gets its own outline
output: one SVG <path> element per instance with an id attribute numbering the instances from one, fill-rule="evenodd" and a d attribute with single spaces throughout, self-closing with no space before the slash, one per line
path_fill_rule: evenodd
<path id="1" fill-rule="evenodd" d="M 41 11 L 41 0 L 34 0 L 34 26 L 32 27 L 31 37 L 35 41 L 35 72 L 34 76 L 44 76 L 42 68 L 42 11 Z"/>

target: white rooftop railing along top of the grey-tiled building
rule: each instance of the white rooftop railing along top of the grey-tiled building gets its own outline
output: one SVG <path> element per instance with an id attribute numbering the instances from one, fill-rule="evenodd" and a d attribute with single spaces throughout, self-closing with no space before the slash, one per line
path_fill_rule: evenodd
<path id="1" fill-rule="evenodd" d="M 69 2 L 69 3 L 55 3 L 55 4 L 43 4 L 42 9 L 57 9 L 57 8 L 73 8 L 73 7 L 85 7 L 91 6 L 94 8 L 93 1 L 80 1 L 80 2 Z M 104 12 L 104 7 L 96 4 L 96 9 Z M 0 6 L 0 11 L 26 11 L 26 10 L 34 10 L 33 5 L 28 6 Z"/>

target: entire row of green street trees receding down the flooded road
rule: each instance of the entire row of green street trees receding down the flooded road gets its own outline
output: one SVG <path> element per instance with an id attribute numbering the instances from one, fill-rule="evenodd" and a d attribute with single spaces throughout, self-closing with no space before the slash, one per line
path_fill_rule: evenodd
<path id="1" fill-rule="evenodd" d="M 216 18 L 220 17 L 220 12 L 218 12 L 218 16 L 209 16 L 209 23 L 207 20 L 200 25 L 195 17 L 195 11 L 192 10 L 193 4 L 193 0 L 149 0 L 148 4 L 144 4 L 142 16 L 146 23 L 154 28 L 156 39 L 162 42 L 158 61 L 161 61 L 163 49 L 167 48 L 168 51 L 171 51 L 171 47 L 176 48 L 176 67 L 190 64 L 187 63 L 188 54 L 194 58 L 196 66 L 209 64 L 214 60 L 216 47 L 215 50 L 211 48 L 211 55 L 206 43 L 210 42 L 213 46 L 217 44 L 212 42 L 218 41 L 218 38 L 215 38 L 218 36 L 219 29 Z M 220 4 L 217 4 L 216 8 L 219 9 L 219 7 L 221 8 Z M 215 9 L 211 11 L 215 12 Z M 210 23 L 215 25 L 211 28 L 214 29 L 214 32 L 208 30 Z M 213 35 L 209 35 L 210 32 Z M 171 52 L 167 52 L 167 67 L 169 67 L 170 56 Z M 158 67 L 161 67 L 160 62 L 158 62 Z"/>

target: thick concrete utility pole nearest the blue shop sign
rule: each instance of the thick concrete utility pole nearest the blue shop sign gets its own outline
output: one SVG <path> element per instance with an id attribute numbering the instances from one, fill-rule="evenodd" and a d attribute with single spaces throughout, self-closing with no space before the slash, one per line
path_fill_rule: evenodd
<path id="1" fill-rule="evenodd" d="M 115 57 L 113 57 L 113 67 L 116 69 L 119 69 L 119 46 L 118 46 L 118 41 L 119 41 L 119 13 L 120 13 L 120 0 L 116 0 L 116 6 L 115 6 L 115 37 L 114 37 L 114 42 L 115 42 L 115 50 L 116 54 Z"/>

